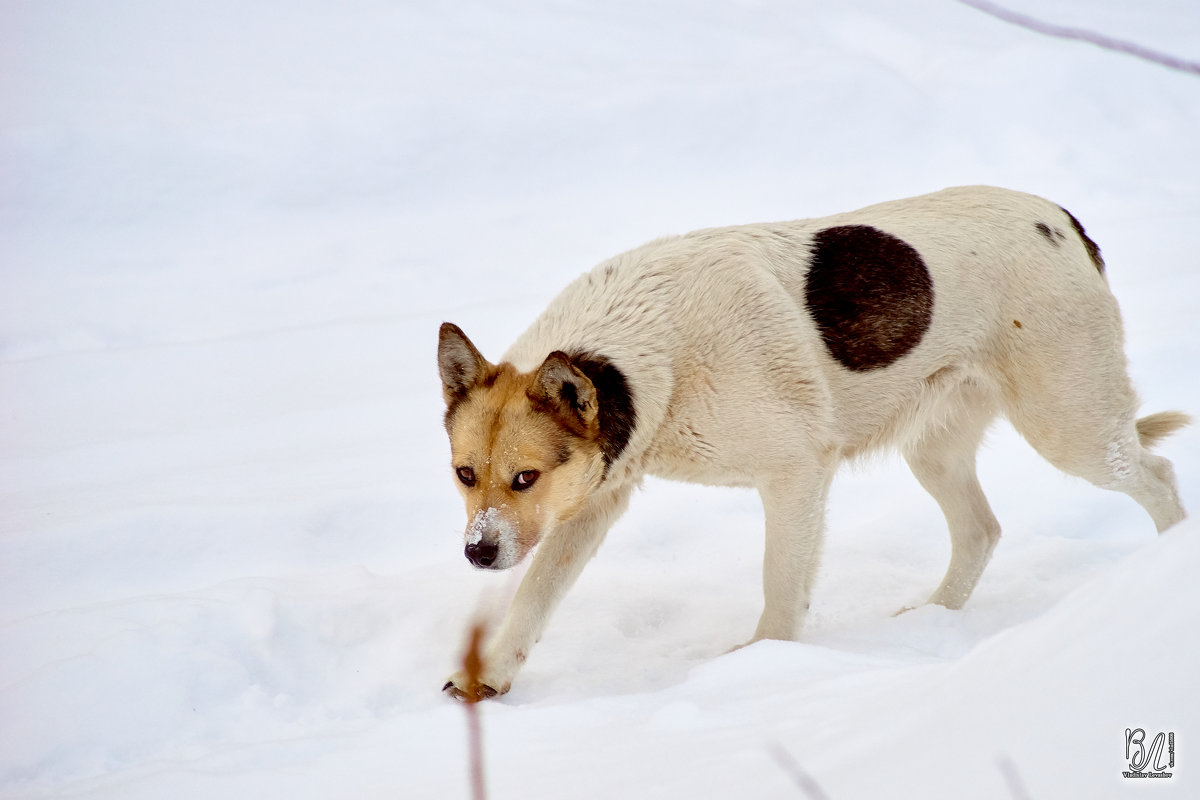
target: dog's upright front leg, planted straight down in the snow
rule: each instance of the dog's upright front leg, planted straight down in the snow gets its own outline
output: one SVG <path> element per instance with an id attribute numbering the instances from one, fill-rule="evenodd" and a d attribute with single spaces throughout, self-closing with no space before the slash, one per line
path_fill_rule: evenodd
<path id="1" fill-rule="evenodd" d="M 767 517 L 762 561 L 763 610 L 754 639 L 794 639 L 824 537 L 824 506 L 833 469 L 814 467 L 758 487 Z"/>

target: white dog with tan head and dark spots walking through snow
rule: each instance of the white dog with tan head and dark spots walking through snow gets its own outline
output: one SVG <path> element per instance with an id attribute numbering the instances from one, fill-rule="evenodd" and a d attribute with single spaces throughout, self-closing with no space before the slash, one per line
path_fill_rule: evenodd
<path id="1" fill-rule="evenodd" d="M 569 284 L 499 363 L 439 331 L 464 554 L 536 553 L 484 650 L 443 691 L 509 691 L 556 603 L 643 475 L 758 491 L 762 616 L 792 639 L 809 607 L 839 464 L 899 447 L 952 541 L 930 603 L 961 608 L 1000 539 L 976 450 L 1006 416 L 1058 469 L 1184 517 L 1150 452 L 1188 423 L 1136 417 L 1099 247 L 1068 211 L 949 188 L 820 219 L 698 230 Z"/>

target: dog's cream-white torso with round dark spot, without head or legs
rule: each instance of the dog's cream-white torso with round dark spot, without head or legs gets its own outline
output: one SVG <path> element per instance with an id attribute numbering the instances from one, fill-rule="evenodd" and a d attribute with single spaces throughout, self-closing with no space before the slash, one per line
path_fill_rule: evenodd
<path id="1" fill-rule="evenodd" d="M 1123 359 L 1080 362 L 1122 347 L 1103 269 L 1052 203 L 946 190 L 650 242 L 568 287 L 506 359 L 529 369 L 554 349 L 607 354 L 640 395 L 632 444 L 644 450 L 630 456 L 648 471 L 754 483 L 778 425 L 853 457 L 940 425 L 964 383 L 1019 427 L 1036 416 L 1021 398 L 1056 375 L 1093 399 L 1106 387 L 1103 416 L 1128 410 Z"/>

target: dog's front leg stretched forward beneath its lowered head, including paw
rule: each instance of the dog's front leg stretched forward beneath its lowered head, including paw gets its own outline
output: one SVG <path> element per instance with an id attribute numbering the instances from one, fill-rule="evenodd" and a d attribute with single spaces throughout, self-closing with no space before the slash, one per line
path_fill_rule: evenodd
<path id="1" fill-rule="evenodd" d="M 484 649 L 476 686 L 466 670 L 456 672 L 443 691 L 462 699 L 504 694 L 529 650 L 541 637 L 551 612 L 595 554 L 608 528 L 629 505 L 630 489 L 593 497 L 576 516 L 546 535 L 534 553 L 504 621 Z"/>

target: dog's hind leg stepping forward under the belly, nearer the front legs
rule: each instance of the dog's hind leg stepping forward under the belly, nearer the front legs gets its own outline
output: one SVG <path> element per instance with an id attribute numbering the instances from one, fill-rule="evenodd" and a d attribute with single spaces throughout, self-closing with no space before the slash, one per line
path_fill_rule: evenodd
<path id="1" fill-rule="evenodd" d="M 950 565 L 929 602 L 962 608 L 1000 541 L 1000 523 L 976 476 L 976 451 L 997 407 L 973 384 L 961 385 L 944 402 L 950 404 L 946 419 L 908 444 L 904 456 L 950 529 Z"/>

